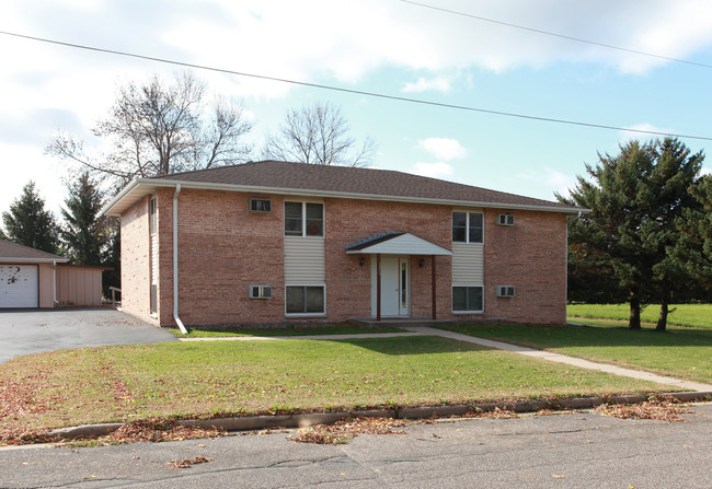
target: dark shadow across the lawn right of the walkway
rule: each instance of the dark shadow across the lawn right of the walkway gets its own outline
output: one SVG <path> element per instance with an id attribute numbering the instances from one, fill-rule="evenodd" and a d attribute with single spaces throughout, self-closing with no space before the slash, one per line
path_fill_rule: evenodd
<path id="1" fill-rule="evenodd" d="M 712 347 L 712 330 L 675 328 L 665 333 L 643 328 L 599 326 L 542 326 L 471 324 L 446 327 L 450 331 L 516 342 L 530 348 L 566 347 Z"/>

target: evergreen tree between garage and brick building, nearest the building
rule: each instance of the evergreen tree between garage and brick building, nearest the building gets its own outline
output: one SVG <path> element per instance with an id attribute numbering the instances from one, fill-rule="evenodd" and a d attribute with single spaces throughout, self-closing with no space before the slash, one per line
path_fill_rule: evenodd
<path id="1" fill-rule="evenodd" d="M 74 264 L 102 265 L 102 253 L 108 238 L 106 220 L 97 218 L 103 196 L 89 172 L 68 186 L 61 216 L 65 220 L 59 236 L 67 257 Z"/>

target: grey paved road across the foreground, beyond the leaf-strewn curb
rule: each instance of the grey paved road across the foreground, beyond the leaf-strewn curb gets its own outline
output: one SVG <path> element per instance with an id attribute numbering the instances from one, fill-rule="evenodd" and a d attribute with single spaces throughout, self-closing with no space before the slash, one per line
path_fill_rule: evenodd
<path id="1" fill-rule="evenodd" d="M 712 404 L 692 409 L 688 422 L 592 411 L 417 424 L 335 446 L 273 433 L 0 450 L 0 487 L 710 488 Z M 198 455 L 213 461 L 168 465 Z"/>

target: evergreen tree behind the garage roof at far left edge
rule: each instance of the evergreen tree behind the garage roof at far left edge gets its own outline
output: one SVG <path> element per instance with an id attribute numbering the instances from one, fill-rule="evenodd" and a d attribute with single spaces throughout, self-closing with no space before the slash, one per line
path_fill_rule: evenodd
<path id="1" fill-rule="evenodd" d="M 50 211 L 45 210 L 45 200 L 30 182 L 22 195 L 2 213 L 4 235 L 9 241 L 47 253 L 58 252 L 58 226 Z"/>

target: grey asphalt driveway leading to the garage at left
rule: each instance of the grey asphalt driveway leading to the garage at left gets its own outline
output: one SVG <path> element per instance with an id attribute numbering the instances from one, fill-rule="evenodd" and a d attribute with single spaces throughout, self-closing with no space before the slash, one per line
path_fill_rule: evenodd
<path id="1" fill-rule="evenodd" d="M 0 363 L 42 351 L 165 341 L 177 339 L 111 308 L 0 310 Z"/>

